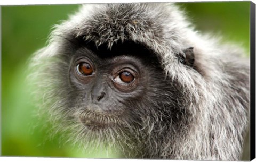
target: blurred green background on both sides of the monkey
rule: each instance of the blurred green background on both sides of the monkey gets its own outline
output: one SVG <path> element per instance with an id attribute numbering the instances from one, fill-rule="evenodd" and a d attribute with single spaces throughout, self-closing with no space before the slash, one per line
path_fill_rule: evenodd
<path id="1" fill-rule="evenodd" d="M 249 56 L 250 2 L 179 3 L 196 29 L 217 33 L 224 41 L 241 45 Z M 66 20 L 79 5 L 2 6 L 2 156 L 100 157 L 116 154 L 86 153 L 49 138 L 40 125 L 25 81 L 28 59 L 46 45 L 53 24 Z M 44 125 L 45 123 L 41 123 Z M 47 124 L 47 123 L 46 123 Z"/>

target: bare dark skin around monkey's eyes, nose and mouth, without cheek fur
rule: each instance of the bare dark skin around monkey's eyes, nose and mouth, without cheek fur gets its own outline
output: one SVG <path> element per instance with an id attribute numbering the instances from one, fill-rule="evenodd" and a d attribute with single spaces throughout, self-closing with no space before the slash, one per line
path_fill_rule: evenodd
<path id="1" fill-rule="evenodd" d="M 131 100 L 147 97 L 150 81 L 158 75 L 155 63 L 147 65 L 127 52 L 107 53 L 108 57 L 80 48 L 70 63 L 71 87 L 84 103 L 79 119 L 91 130 L 115 126 L 119 116 L 129 113 Z"/>

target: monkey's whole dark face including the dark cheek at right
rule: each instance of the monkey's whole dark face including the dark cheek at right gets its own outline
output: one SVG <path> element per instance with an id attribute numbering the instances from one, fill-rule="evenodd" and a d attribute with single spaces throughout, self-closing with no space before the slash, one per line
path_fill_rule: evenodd
<path id="1" fill-rule="evenodd" d="M 136 112 L 149 111 L 162 97 L 158 91 L 166 89 L 163 70 L 149 52 L 140 50 L 135 57 L 134 50 L 138 49 L 100 52 L 82 47 L 68 59 L 73 117 L 86 130 L 138 124 L 141 116 Z"/>

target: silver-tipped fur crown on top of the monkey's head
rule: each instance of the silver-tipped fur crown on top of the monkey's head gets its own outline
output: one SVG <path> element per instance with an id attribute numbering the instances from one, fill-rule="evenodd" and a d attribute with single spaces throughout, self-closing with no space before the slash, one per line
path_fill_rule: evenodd
<path id="1" fill-rule="evenodd" d="M 172 3 L 85 4 L 57 27 L 53 38 L 60 33 L 73 35 L 108 48 L 117 41 L 131 40 L 163 54 L 189 46 L 188 25 Z"/>

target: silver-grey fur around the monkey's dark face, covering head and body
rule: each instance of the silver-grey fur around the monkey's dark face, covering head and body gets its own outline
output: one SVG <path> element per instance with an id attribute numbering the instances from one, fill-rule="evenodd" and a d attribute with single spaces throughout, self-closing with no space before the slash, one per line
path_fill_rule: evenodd
<path id="1" fill-rule="evenodd" d="M 125 124 L 129 131 L 85 131 L 75 117 L 82 106 L 73 104 L 77 96 L 67 88 L 67 74 L 61 74 L 70 66 L 62 58 L 68 55 L 64 47 L 70 37 L 93 42 L 97 47 L 105 44 L 109 50 L 119 41 L 145 45 L 159 58 L 166 80 L 178 83 L 186 100 L 167 93 L 169 98 L 177 97 L 179 108 L 175 111 L 166 107 L 172 105 L 171 99 L 163 101 L 161 109 L 146 110 L 147 115 L 135 109 L 142 114 L 138 127 L 122 118 L 115 121 Z M 189 47 L 194 47 L 195 68 L 178 61 L 177 54 Z M 108 143 L 122 150 L 125 157 L 239 160 L 249 125 L 250 102 L 250 64 L 240 58 L 243 54 L 237 46 L 219 44 L 218 39 L 196 32 L 172 3 L 86 4 L 55 27 L 49 44 L 31 61 L 31 77 L 38 86 L 39 107 L 55 122 L 54 129 L 70 132 L 68 140 L 80 143 L 84 149 L 90 142 Z M 164 95 L 156 92 L 152 96 L 159 94 Z M 159 100 L 153 102 L 161 105 Z M 145 103 L 137 107 L 145 107 Z M 171 119 L 175 113 L 179 115 Z"/>

